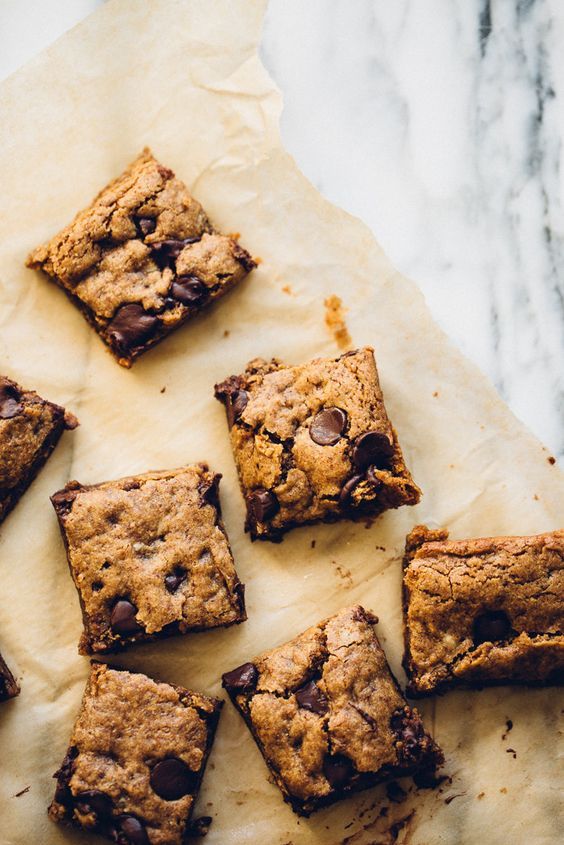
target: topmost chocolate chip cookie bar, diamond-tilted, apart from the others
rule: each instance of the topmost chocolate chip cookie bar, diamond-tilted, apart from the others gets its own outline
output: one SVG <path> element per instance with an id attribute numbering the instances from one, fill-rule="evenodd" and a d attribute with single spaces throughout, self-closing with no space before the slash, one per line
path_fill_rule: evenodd
<path id="1" fill-rule="evenodd" d="M 47 273 L 130 367 L 256 264 L 145 149 L 27 266 Z"/>

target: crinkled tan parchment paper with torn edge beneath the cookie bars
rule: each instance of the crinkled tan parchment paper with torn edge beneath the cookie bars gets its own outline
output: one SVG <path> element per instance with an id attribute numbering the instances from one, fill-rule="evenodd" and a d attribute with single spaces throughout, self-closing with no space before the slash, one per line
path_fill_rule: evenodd
<path id="1" fill-rule="evenodd" d="M 22 683 L 19 699 L 0 707 L 3 844 L 100 841 L 45 814 L 88 670 L 48 501 L 69 478 L 97 482 L 202 459 L 223 473 L 248 622 L 119 657 L 213 694 L 221 694 L 222 671 L 356 601 L 379 615 L 401 678 L 400 557 L 413 524 L 463 537 L 564 523 L 564 479 L 547 451 L 450 345 L 367 228 L 325 202 L 281 148 L 281 99 L 256 52 L 264 6 L 113 0 L 0 89 L 0 369 L 81 421 L 1 528 L 0 645 Z M 145 144 L 262 263 L 217 308 L 125 371 L 23 262 Z M 212 386 L 257 355 L 299 362 L 337 354 L 324 319 L 332 295 L 349 309 L 353 343 L 376 349 L 388 411 L 424 497 L 369 530 L 342 523 L 296 530 L 280 546 L 253 545 Z M 226 704 L 197 808 L 214 817 L 209 845 L 558 840 L 558 690 L 452 693 L 421 709 L 451 784 L 413 790 L 401 804 L 375 789 L 298 821 Z M 513 729 L 503 738 L 507 719 Z"/>

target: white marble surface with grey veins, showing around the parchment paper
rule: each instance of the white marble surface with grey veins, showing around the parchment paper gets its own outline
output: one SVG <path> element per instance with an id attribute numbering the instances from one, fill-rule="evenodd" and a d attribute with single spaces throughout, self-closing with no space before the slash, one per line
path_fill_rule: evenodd
<path id="1" fill-rule="evenodd" d="M 99 2 L 0 0 L 0 76 Z M 304 173 L 560 457 L 562 43 L 560 0 L 270 0 L 262 50 Z"/>

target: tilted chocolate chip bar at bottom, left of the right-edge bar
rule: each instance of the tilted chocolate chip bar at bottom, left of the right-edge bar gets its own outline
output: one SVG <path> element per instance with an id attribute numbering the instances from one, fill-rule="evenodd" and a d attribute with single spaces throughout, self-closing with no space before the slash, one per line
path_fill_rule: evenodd
<path id="1" fill-rule="evenodd" d="M 223 676 L 299 815 L 387 779 L 429 776 L 443 762 L 390 672 L 376 621 L 345 608 Z"/>

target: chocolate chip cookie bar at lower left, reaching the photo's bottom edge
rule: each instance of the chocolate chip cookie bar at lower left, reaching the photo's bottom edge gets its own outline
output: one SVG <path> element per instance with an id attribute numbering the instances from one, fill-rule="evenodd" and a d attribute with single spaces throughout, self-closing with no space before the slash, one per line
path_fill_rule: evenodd
<path id="1" fill-rule="evenodd" d="M 49 817 L 120 845 L 184 845 L 221 706 L 182 687 L 93 663 L 69 749 L 54 775 Z"/>

